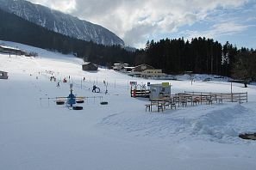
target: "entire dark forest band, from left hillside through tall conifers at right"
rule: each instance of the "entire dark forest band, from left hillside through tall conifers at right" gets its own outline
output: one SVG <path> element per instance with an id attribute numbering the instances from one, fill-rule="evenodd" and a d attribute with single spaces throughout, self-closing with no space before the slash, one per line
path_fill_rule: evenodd
<path id="1" fill-rule="evenodd" d="M 84 61 L 103 66 L 122 62 L 130 65 L 149 64 L 167 74 L 192 71 L 198 74 L 232 76 L 256 80 L 256 51 L 229 42 L 222 45 L 214 39 L 160 39 L 147 41 L 146 47 L 128 52 L 121 46 L 103 46 L 74 39 L 35 25 L 0 9 L 0 39 L 36 46 L 54 52 L 73 54 Z"/>

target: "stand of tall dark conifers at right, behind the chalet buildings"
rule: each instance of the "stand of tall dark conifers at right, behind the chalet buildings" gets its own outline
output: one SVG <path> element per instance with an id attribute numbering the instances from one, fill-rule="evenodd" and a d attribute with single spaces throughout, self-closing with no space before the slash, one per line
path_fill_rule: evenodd
<path id="1" fill-rule="evenodd" d="M 147 41 L 145 49 L 135 52 L 135 64 L 150 64 L 169 74 L 190 71 L 197 74 L 231 76 L 256 80 L 256 51 L 214 39 L 160 39 Z"/>

